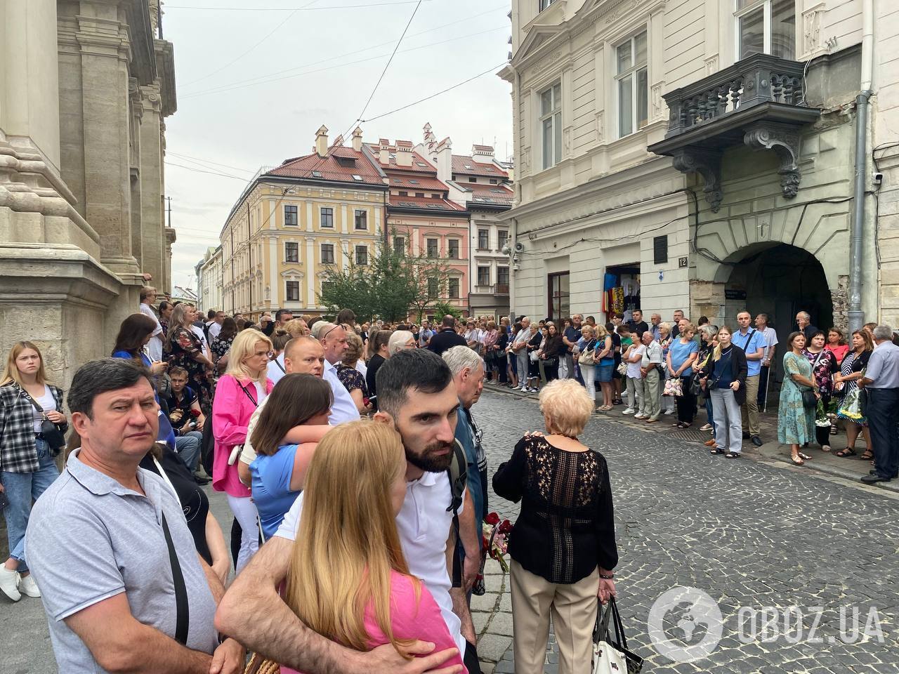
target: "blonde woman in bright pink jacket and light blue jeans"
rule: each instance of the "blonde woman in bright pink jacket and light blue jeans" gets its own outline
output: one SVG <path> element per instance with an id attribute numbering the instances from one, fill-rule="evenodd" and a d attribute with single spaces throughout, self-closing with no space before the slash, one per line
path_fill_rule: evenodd
<path id="1" fill-rule="evenodd" d="M 270 351 L 271 340 L 258 330 L 237 333 L 227 372 L 218 380 L 212 401 L 212 435 L 216 440 L 212 488 L 227 493 L 231 512 L 243 529 L 235 561 L 238 573 L 259 549 L 259 527 L 250 490 L 237 476 L 236 459 L 246 441 L 250 417 L 271 393 L 271 380 L 266 377 Z"/>

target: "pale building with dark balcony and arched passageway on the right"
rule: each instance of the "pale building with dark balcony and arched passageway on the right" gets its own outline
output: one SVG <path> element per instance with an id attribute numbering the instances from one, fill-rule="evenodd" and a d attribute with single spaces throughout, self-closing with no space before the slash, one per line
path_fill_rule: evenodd
<path id="1" fill-rule="evenodd" d="M 857 302 L 856 322 L 899 322 L 899 4 L 513 0 L 511 16 L 514 313 L 599 319 L 622 297 L 723 323 L 746 306 L 786 334 L 797 310 L 845 326 Z"/>

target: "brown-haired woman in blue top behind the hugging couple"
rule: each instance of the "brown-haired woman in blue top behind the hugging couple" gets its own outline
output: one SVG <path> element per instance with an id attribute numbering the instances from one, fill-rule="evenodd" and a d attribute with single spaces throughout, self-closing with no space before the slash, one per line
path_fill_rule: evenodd
<path id="1" fill-rule="evenodd" d="M 280 445 L 281 439 L 295 426 L 326 425 L 332 404 L 334 394 L 324 379 L 296 373 L 281 377 L 265 401 L 250 437 L 256 450 L 250 474 L 253 501 L 266 539 L 274 536 L 303 489 L 317 444 Z"/>

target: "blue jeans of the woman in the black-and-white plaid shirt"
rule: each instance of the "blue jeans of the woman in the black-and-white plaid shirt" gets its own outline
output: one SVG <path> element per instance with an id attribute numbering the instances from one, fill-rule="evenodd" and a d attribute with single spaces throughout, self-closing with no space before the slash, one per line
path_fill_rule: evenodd
<path id="1" fill-rule="evenodd" d="M 25 563 L 25 529 L 31 515 L 31 501 L 37 501 L 59 476 L 56 459 L 50 454 L 49 445 L 35 438 L 40 466 L 33 473 L 0 472 L 9 505 L 3 511 L 6 519 L 6 537 L 9 540 L 9 556 L 19 562 L 19 572 L 28 572 Z"/>

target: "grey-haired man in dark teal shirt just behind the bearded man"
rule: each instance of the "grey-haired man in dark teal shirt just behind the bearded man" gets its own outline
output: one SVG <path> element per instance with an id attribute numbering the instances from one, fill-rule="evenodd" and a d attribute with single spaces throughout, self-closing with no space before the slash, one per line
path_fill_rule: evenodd
<path id="1" fill-rule="evenodd" d="M 479 524 L 487 514 L 487 457 L 481 447 L 481 434 L 471 416 L 471 406 L 480 399 L 484 390 L 484 360 L 467 346 L 454 346 L 444 351 L 443 361 L 452 373 L 461 407 L 456 423 L 456 441 L 465 449 L 468 492 L 475 502 L 475 521 Z M 478 536 L 477 540 L 480 541 L 481 537 Z"/>

